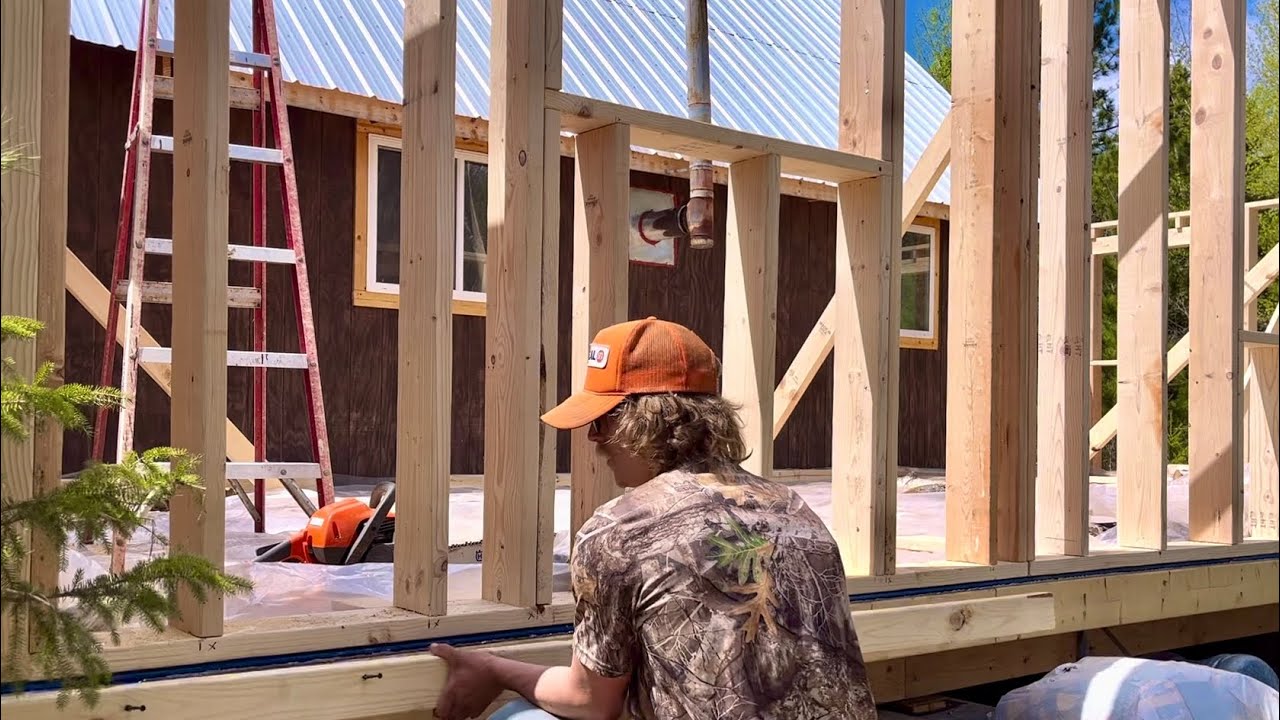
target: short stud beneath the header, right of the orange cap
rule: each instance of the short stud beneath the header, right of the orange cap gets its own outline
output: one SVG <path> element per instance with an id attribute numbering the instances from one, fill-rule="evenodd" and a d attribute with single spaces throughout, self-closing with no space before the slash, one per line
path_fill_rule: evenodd
<path id="1" fill-rule="evenodd" d="M 773 474 L 780 167 L 777 155 L 733 163 L 724 215 L 721 387 L 726 397 L 741 406 L 742 437 L 750 454 L 742 468 L 764 478 Z"/>

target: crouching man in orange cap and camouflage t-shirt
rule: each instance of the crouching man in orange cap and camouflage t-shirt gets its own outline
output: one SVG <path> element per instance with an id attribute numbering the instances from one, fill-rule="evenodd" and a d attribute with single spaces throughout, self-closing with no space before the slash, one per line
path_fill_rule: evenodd
<path id="1" fill-rule="evenodd" d="M 876 707 L 827 527 L 748 452 L 719 364 L 687 328 L 600 331 L 585 387 L 548 411 L 626 488 L 579 530 L 573 660 L 547 667 L 436 644 L 439 717 L 870 720 Z"/>

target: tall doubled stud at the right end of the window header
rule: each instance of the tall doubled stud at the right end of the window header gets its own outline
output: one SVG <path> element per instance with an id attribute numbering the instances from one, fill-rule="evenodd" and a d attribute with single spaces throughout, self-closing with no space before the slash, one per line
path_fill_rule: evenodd
<path id="1" fill-rule="evenodd" d="M 888 161 L 878 181 L 836 191 L 832 505 L 855 575 L 896 565 L 904 17 L 900 0 L 845 0 L 840 12 L 840 149 Z"/>

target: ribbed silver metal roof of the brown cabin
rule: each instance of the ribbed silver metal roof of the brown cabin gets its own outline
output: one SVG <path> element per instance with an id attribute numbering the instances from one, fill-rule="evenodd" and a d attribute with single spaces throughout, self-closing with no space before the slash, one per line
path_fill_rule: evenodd
<path id="1" fill-rule="evenodd" d="M 143 0 L 72 0 L 72 35 L 137 47 Z M 160 33 L 173 37 L 173 1 Z M 403 0 L 275 0 L 284 78 L 401 102 Z M 250 0 L 232 0 L 232 44 L 248 50 Z M 488 117 L 490 0 L 458 0 L 457 113 Z M 712 122 L 836 146 L 840 0 L 708 3 Z M 564 0 L 564 90 L 685 117 L 685 0 Z M 904 161 L 915 165 L 951 97 L 905 60 Z M 948 202 L 950 172 L 929 195 Z"/>

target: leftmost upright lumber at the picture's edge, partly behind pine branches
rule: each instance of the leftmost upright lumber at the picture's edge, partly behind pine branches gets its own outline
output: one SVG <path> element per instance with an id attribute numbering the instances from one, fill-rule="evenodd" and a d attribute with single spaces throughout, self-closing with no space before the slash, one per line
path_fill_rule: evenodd
<path id="1" fill-rule="evenodd" d="M 50 386 L 63 382 L 65 291 L 63 249 L 67 246 L 67 176 L 70 38 L 69 0 L 5 3 L 0 18 L 0 106 L 3 142 L 14 167 L 3 177 L 0 217 L 0 313 L 32 318 L 45 325 L 33 342 L 5 343 L 13 372 L 33 377 L 52 364 Z M 9 369 L 6 368 L 6 373 Z M 61 478 L 61 432 L 50 425 L 28 428 L 26 439 L 0 442 L 5 501 L 49 492 Z M 24 534 L 31 556 L 17 562 L 19 579 L 51 588 L 58 582 L 56 548 L 41 534 Z M 14 638 L 10 618 L 0 619 L 0 655 L 27 652 L 27 638 Z"/>

